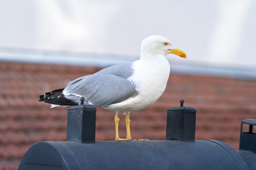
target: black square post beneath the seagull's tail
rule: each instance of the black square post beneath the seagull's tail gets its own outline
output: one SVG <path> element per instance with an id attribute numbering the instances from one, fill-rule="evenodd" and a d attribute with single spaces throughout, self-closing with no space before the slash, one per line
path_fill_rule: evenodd
<path id="1" fill-rule="evenodd" d="M 67 141 L 95 143 L 96 108 L 72 106 L 67 110 Z"/>

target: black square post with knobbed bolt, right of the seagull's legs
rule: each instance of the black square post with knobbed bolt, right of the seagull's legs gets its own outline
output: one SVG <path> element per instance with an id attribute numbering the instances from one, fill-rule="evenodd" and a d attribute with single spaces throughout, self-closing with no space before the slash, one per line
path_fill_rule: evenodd
<path id="1" fill-rule="evenodd" d="M 195 141 L 195 114 L 192 107 L 169 108 L 167 111 L 166 140 Z"/>

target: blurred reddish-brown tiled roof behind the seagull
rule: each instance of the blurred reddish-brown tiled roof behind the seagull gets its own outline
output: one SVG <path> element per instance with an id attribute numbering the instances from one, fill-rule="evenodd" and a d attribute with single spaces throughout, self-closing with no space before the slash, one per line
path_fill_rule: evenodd
<path id="1" fill-rule="evenodd" d="M 38 141 L 65 141 L 67 108 L 49 108 L 38 96 L 62 88 L 96 67 L 0 62 L 0 170 L 17 169 L 27 149 Z M 216 139 L 239 147 L 240 122 L 256 119 L 256 80 L 171 73 L 162 97 L 131 113 L 133 138 L 164 140 L 167 109 L 197 110 L 196 139 Z M 120 137 L 126 136 L 119 114 Z M 114 140 L 114 113 L 97 108 L 96 140 Z"/>

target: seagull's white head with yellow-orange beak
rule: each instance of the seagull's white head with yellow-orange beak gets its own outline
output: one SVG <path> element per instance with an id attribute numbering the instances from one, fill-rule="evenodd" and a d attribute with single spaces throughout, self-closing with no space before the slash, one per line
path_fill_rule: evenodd
<path id="1" fill-rule="evenodd" d="M 141 55 L 160 54 L 165 56 L 169 53 L 186 58 L 186 53 L 184 53 L 184 51 L 177 49 L 171 44 L 170 40 L 160 35 L 151 35 L 141 42 Z"/>

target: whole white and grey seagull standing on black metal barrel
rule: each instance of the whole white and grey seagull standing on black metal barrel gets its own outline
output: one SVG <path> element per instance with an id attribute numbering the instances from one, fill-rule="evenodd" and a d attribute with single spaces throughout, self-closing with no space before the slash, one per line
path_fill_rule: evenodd
<path id="1" fill-rule="evenodd" d="M 169 53 L 186 58 L 186 53 L 167 38 L 151 35 L 141 42 L 139 60 L 74 79 L 65 88 L 40 95 L 39 101 L 52 104 L 51 108 L 90 104 L 114 111 L 115 140 L 133 140 L 130 112 L 155 103 L 164 93 L 170 75 L 170 64 L 166 59 Z M 125 139 L 118 134 L 119 112 L 126 115 Z"/>

